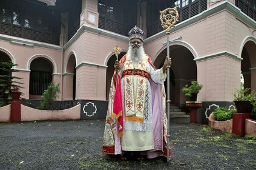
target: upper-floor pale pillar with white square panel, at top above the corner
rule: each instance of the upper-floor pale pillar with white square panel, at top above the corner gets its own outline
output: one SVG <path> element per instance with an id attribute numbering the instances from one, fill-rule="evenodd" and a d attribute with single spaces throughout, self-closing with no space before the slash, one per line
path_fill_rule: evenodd
<path id="1" fill-rule="evenodd" d="M 98 27 L 99 13 L 98 1 L 82 0 L 82 12 L 80 14 L 80 27 L 88 25 Z"/>

